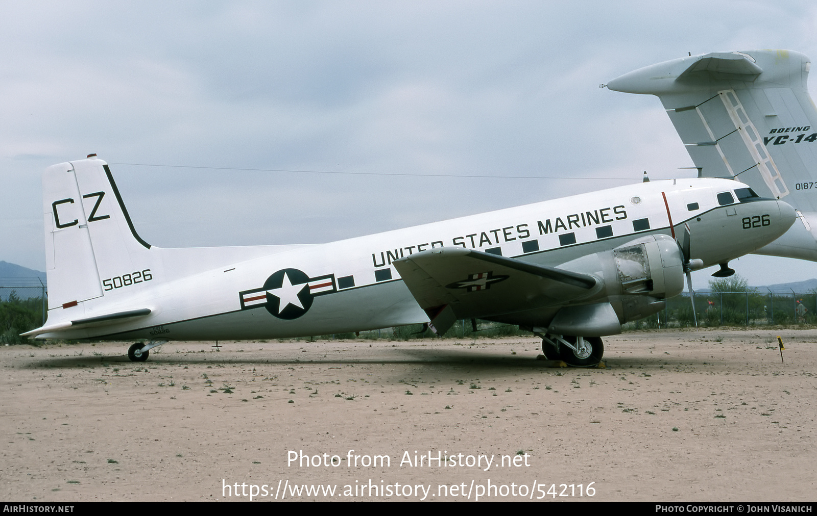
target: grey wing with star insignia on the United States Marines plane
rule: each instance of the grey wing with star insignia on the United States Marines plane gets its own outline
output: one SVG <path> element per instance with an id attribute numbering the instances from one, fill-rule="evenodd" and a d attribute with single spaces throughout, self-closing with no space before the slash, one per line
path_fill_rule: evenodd
<path id="1" fill-rule="evenodd" d="M 596 278 L 588 274 L 459 247 L 422 251 L 392 263 L 440 335 L 458 319 L 562 305 L 596 287 Z"/>

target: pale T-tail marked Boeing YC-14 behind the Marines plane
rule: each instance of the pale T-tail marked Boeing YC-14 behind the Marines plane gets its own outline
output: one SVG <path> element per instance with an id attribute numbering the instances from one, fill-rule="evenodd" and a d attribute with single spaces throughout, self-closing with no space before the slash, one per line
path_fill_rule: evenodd
<path id="1" fill-rule="evenodd" d="M 610 90 L 658 96 L 699 177 L 785 199 L 799 221 L 755 254 L 817 261 L 817 109 L 811 60 L 794 51 L 712 52 L 653 64 Z"/>

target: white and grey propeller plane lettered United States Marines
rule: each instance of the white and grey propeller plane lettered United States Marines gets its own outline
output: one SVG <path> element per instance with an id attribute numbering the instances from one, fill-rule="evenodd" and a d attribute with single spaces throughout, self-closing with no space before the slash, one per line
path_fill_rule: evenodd
<path id="1" fill-rule="evenodd" d="M 108 165 L 43 176 L 48 319 L 38 339 L 270 339 L 457 319 L 520 325 L 548 358 L 595 365 L 601 336 L 655 314 L 690 270 L 792 225 L 735 180 L 644 182 L 338 242 L 160 249 L 136 234 Z"/>

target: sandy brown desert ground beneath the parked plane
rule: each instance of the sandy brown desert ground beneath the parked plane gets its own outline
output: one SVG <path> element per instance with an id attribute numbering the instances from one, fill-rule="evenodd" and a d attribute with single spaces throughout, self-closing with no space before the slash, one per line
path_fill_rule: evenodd
<path id="1" fill-rule="evenodd" d="M 0 348 L 0 497 L 815 500 L 817 330 L 213 344 Z"/>

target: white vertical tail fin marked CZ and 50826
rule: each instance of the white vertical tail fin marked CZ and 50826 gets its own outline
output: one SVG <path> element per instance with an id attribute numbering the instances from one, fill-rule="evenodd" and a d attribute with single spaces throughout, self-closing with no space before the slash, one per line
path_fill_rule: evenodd
<path id="1" fill-rule="evenodd" d="M 122 299 L 127 287 L 161 275 L 96 154 L 48 167 L 42 186 L 50 318 L 77 318 L 86 301 Z"/>

